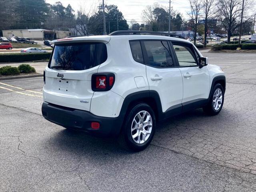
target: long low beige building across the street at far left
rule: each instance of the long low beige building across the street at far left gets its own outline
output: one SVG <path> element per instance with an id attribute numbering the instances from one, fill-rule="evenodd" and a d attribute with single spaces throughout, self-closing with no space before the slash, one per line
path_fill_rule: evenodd
<path id="1" fill-rule="evenodd" d="M 2 30 L 3 36 L 10 38 L 12 36 L 26 37 L 32 40 L 52 40 L 70 36 L 69 31 L 46 30 L 46 29 L 14 29 Z"/>

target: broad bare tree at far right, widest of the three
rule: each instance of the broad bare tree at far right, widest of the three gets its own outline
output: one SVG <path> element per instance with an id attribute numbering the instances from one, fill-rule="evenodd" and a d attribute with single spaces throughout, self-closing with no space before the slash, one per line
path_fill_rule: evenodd
<path id="1" fill-rule="evenodd" d="M 250 12 L 250 9 L 253 7 L 252 0 L 244 1 L 244 11 L 247 13 Z M 242 0 L 218 0 L 218 12 L 220 13 L 219 20 L 222 23 L 222 26 L 228 32 L 228 43 L 230 43 L 230 37 L 234 30 L 240 25 L 240 18 L 242 14 Z M 246 16 L 244 12 L 244 22 L 248 22 L 252 16 Z"/>

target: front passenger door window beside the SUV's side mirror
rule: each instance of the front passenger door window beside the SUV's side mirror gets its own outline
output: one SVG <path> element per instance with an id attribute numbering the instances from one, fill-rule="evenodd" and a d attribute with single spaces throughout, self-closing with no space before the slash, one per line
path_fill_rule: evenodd
<path id="1" fill-rule="evenodd" d="M 189 46 L 173 45 L 178 62 L 182 67 L 197 66 L 196 56 Z"/>

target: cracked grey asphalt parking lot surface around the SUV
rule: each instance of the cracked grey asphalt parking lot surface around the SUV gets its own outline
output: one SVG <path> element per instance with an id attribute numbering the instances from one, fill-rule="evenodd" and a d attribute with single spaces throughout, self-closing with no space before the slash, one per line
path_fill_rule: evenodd
<path id="1" fill-rule="evenodd" d="M 256 54 L 203 55 L 226 73 L 222 111 L 161 122 L 138 153 L 45 120 L 42 78 L 1 81 L 0 191 L 256 192 Z"/>

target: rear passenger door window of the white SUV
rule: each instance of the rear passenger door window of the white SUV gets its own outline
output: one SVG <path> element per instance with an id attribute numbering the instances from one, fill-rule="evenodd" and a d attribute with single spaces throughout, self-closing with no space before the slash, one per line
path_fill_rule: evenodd
<path id="1" fill-rule="evenodd" d="M 157 68 L 173 67 L 172 55 L 166 41 L 144 41 L 148 65 Z"/>

